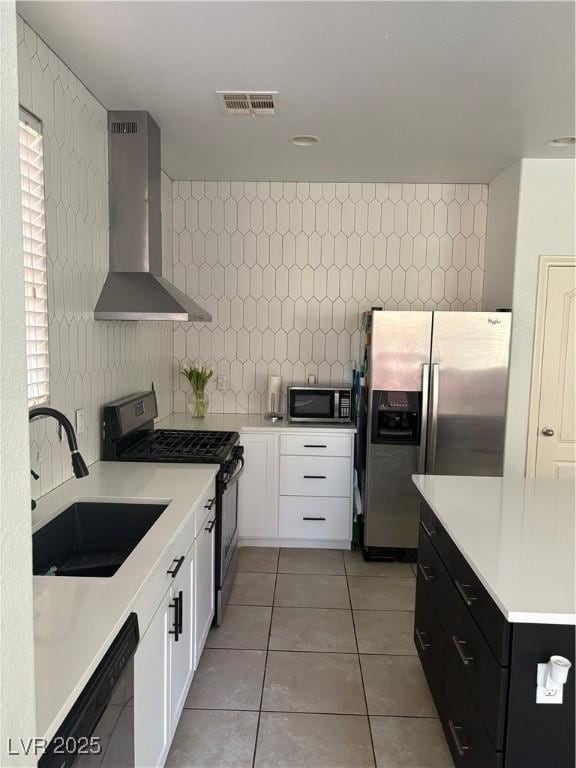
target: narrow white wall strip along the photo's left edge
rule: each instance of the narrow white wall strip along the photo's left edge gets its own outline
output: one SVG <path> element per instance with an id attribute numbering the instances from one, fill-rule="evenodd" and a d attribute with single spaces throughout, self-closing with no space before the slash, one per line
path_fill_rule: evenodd
<path id="1" fill-rule="evenodd" d="M 7 739 L 35 735 L 32 528 L 14 2 L 0 2 L 0 765 Z"/>

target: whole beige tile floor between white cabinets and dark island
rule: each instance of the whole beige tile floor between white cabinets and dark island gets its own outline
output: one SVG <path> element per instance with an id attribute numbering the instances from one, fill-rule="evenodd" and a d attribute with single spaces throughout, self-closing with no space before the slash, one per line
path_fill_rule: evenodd
<path id="1" fill-rule="evenodd" d="M 169 768 L 450 768 L 412 642 L 411 565 L 245 547 Z"/>

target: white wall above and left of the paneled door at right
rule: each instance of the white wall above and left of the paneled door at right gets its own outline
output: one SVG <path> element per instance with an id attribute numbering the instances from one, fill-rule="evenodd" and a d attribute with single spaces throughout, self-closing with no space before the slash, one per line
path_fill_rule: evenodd
<path id="1" fill-rule="evenodd" d="M 508 244 L 512 241 L 510 233 L 515 228 L 512 344 L 504 472 L 522 476 L 526 467 L 538 265 L 541 256 L 570 256 L 576 253 L 576 162 L 522 160 L 502 176 L 507 174 L 508 177 L 504 180 L 498 177 L 494 185 L 508 189 L 508 193 L 503 196 L 503 207 L 500 211 L 502 219 L 509 219 L 504 222 L 508 228 L 508 237 L 492 238 L 491 234 L 488 234 L 486 264 L 487 272 L 494 269 L 494 279 L 497 281 L 499 258 L 504 255 L 498 251 L 498 246 L 504 242 L 506 249 L 509 248 Z M 518 201 L 516 215 L 513 205 L 515 199 Z M 492 191 L 490 205 L 496 205 Z M 496 212 L 492 210 L 489 225 L 495 217 Z M 505 271 L 509 273 L 508 266 Z M 486 284 L 489 284 L 488 275 Z"/>

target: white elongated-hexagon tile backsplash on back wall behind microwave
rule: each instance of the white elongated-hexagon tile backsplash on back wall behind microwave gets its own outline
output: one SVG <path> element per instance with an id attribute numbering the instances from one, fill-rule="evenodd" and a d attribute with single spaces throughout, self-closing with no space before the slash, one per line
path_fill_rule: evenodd
<path id="1" fill-rule="evenodd" d="M 348 381 L 371 306 L 481 309 L 487 202 L 482 184 L 173 182 L 172 277 L 213 318 L 175 325 L 174 410 L 185 360 L 228 379 L 210 411 L 261 413 L 269 374 Z"/>

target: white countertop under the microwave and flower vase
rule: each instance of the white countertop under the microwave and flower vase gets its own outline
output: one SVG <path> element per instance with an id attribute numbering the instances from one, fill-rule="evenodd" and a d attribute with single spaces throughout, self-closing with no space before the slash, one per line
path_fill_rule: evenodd
<path id="1" fill-rule="evenodd" d="M 356 432 L 354 424 L 307 424 L 287 421 L 270 421 L 262 414 L 209 413 L 203 419 L 194 419 L 189 413 L 171 413 L 156 423 L 157 429 L 224 429 L 234 432 Z"/>

